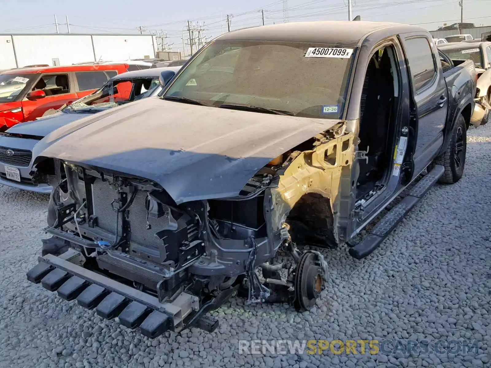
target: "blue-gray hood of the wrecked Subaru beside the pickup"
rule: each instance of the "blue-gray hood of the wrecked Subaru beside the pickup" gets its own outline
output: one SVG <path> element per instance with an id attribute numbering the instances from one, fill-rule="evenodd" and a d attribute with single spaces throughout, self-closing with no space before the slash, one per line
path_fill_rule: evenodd
<path id="1" fill-rule="evenodd" d="M 25 134 L 45 137 L 52 131 L 55 131 L 56 129 L 61 128 L 64 125 L 71 123 L 72 121 L 82 119 L 83 117 L 86 117 L 88 115 L 93 115 L 93 113 L 58 112 L 46 118 L 34 121 L 27 121 L 25 123 L 14 125 L 6 132 L 13 134 Z"/>

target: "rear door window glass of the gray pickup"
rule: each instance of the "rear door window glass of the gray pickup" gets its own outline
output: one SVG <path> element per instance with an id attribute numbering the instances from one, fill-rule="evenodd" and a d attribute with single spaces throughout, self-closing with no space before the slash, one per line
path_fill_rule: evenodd
<path id="1" fill-rule="evenodd" d="M 406 54 L 409 59 L 414 93 L 431 83 L 436 74 L 435 60 L 430 43 L 425 37 L 406 40 Z"/>

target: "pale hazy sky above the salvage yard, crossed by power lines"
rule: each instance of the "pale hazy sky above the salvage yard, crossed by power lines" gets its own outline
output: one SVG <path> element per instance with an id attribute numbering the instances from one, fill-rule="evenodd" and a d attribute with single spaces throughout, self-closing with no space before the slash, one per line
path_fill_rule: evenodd
<path id="1" fill-rule="evenodd" d="M 187 21 L 199 25 L 203 39 L 230 30 L 264 23 L 282 23 L 286 2 L 287 20 L 347 20 L 348 0 L 0 0 L 0 33 L 54 33 L 55 15 L 59 32 L 72 33 L 162 32 L 173 51 L 183 49 Z M 491 26 L 491 0 L 463 0 L 464 22 Z M 459 0 L 352 0 L 352 18 L 419 24 L 435 30 L 443 23 L 460 21 Z M 185 46 L 186 47 L 186 46 Z"/>

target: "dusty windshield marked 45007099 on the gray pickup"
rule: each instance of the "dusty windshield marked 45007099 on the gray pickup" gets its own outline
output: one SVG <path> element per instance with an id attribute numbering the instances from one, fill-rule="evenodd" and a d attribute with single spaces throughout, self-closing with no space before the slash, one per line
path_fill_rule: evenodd
<path id="1" fill-rule="evenodd" d="M 353 49 L 343 46 L 218 40 L 191 60 L 163 98 L 340 119 L 353 59 Z"/>

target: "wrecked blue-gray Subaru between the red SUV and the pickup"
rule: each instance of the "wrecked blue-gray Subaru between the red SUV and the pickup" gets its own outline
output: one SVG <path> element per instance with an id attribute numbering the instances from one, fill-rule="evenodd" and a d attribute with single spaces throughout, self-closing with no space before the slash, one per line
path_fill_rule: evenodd
<path id="1" fill-rule="evenodd" d="M 38 120 L 16 124 L 5 132 L 0 132 L 0 184 L 50 193 L 52 187 L 46 177 L 33 181 L 30 176 L 32 149 L 40 140 L 75 120 L 114 106 L 157 96 L 162 86 L 179 69 L 180 67 L 147 68 L 121 73 L 109 79 L 97 91 L 70 105 L 65 104 L 58 110 L 47 110 L 44 117 Z"/>

